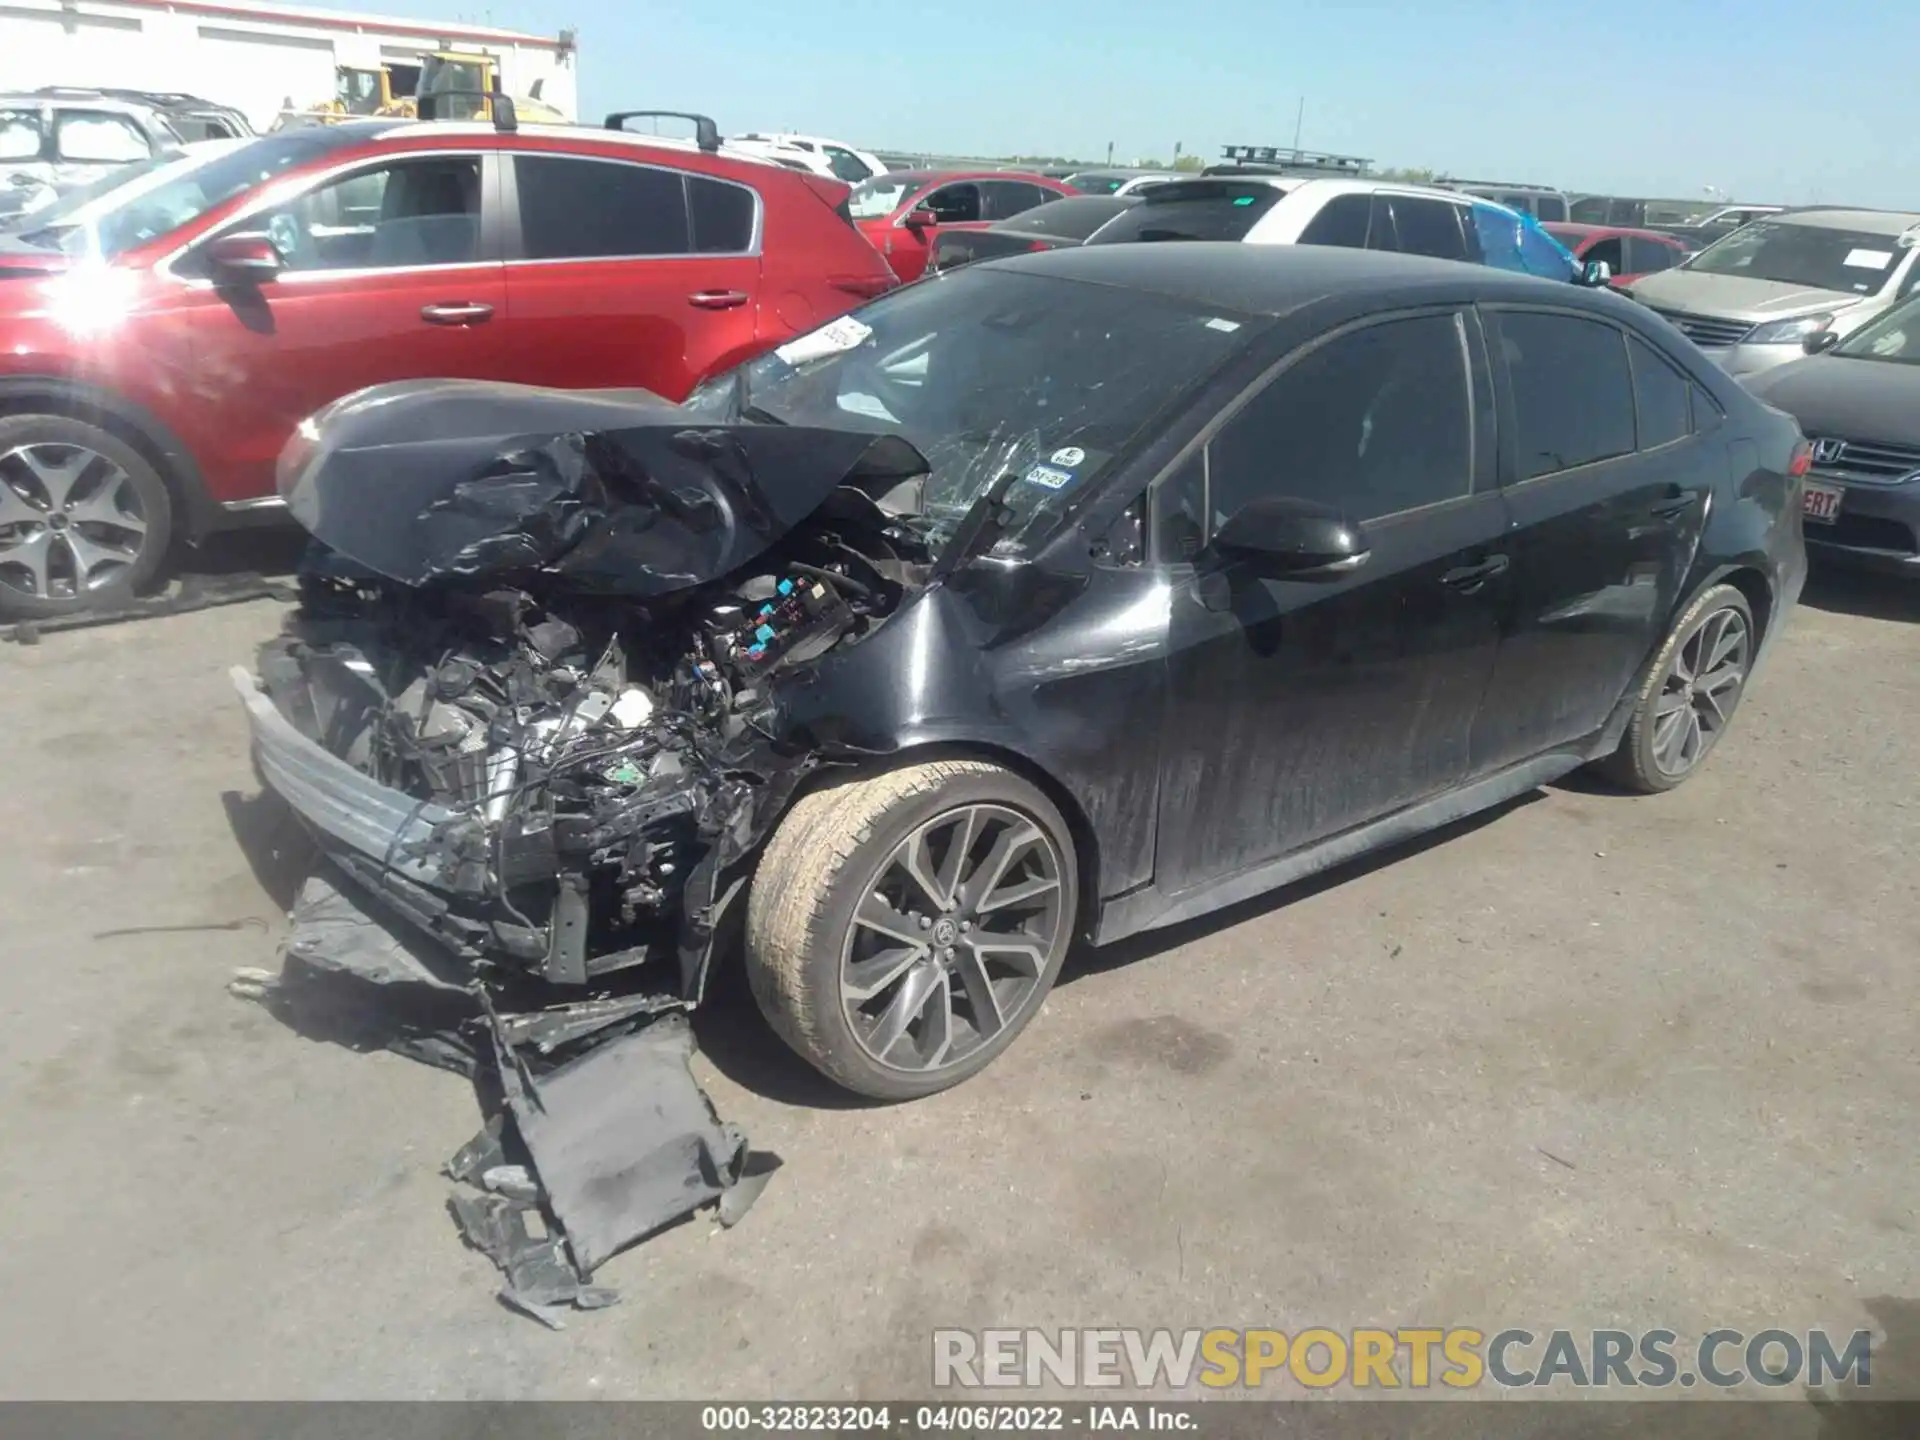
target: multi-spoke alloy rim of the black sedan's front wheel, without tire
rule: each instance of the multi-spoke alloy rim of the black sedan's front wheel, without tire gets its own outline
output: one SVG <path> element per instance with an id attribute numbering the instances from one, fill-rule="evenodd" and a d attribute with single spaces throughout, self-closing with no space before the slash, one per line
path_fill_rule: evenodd
<path id="1" fill-rule="evenodd" d="M 1066 925 L 1060 851 L 1004 804 L 947 810 L 893 847 L 841 950 L 854 1043 L 916 1075 L 964 1064 L 1020 1023 Z"/>

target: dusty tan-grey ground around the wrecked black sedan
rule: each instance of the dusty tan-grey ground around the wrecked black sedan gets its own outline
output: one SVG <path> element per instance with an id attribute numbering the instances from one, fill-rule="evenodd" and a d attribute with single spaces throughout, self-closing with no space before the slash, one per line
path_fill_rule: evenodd
<path id="1" fill-rule="evenodd" d="M 444 1212 L 470 1089 L 223 989 L 282 924 L 225 678 L 276 624 L 0 647 L 8 1398 L 902 1396 L 941 1325 L 1872 1327 L 1920 1377 L 1920 589 L 1818 582 L 1680 791 L 1081 954 L 956 1092 L 856 1106 L 703 1012 L 787 1165 L 564 1334 Z M 209 922 L 255 924 L 104 935 Z"/>

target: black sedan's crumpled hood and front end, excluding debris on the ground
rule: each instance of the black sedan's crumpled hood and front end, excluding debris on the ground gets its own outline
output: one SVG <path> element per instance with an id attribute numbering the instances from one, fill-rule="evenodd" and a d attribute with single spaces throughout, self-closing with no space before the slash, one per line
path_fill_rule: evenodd
<path id="1" fill-rule="evenodd" d="M 925 463 L 572 399 L 382 386 L 303 426 L 282 490 L 321 549 L 234 684 L 265 780 L 453 954 L 570 987 L 657 964 L 693 1002 L 720 877 L 822 758 L 781 684 L 924 582 Z M 557 419 L 634 422 L 520 428 Z"/>

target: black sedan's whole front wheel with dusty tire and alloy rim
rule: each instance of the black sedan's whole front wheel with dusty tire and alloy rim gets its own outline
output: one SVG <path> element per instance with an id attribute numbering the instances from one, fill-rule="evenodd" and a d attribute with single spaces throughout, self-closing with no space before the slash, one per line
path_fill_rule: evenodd
<path id="1" fill-rule="evenodd" d="M 981 760 L 816 791 L 753 877 L 753 996 L 849 1091 L 945 1091 L 1012 1044 L 1052 989 L 1073 941 L 1075 864 L 1052 801 Z"/>

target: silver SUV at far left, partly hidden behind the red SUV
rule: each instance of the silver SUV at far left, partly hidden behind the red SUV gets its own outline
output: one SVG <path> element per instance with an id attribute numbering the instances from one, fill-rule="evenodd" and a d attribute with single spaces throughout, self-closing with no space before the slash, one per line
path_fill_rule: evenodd
<path id="1" fill-rule="evenodd" d="M 0 94 L 0 225 L 161 150 L 180 132 L 157 106 L 106 94 Z"/>

